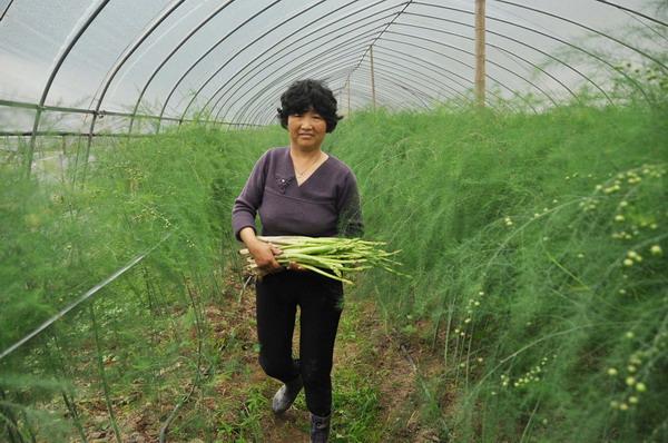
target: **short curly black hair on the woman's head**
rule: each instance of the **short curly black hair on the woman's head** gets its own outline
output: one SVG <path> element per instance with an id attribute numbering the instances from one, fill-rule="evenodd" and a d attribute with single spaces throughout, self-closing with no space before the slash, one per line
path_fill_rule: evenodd
<path id="1" fill-rule="evenodd" d="M 336 124 L 343 117 L 336 115 L 336 99 L 330 88 L 322 80 L 297 80 L 281 96 L 278 108 L 278 120 L 281 126 L 287 129 L 287 117 L 295 114 L 306 112 L 314 109 L 325 119 L 327 132 L 336 128 Z"/>

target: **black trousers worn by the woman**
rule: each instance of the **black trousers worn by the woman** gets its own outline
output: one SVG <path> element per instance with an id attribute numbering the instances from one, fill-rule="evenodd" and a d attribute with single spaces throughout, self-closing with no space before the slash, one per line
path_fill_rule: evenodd
<path id="1" fill-rule="evenodd" d="M 332 411 L 332 357 L 343 309 L 343 284 L 312 272 L 284 270 L 255 285 L 259 365 L 287 383 L 302 375 L 306 406 L 315 415 Z M 293 332 L 299 306 L 299 357 Z"/>

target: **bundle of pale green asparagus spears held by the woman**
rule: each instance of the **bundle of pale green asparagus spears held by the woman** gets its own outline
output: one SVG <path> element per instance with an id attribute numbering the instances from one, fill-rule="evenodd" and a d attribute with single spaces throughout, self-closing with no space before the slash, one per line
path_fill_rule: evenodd
<path id="1" fill-rule="evenodd" d="M 401 265 L 392 256 L 400 253 L 389 253 L 381 249 L 384 242 L 369 242 L 360 238 L 340 237 L 304 237 L 304 236 L 259 236 L 261 240 L 278 247 L 283 254 L 276 256 L 278 264 L 287 266 L 291 263 L 314 273 L 340 282 L 353 284 L 343 276 L 347 272 L 360 272 L 372 267 L 382 267 L 393 274 L 403 275 L 392 266 Z M 248 249 L 239 250 L 247 256 L 247 268 L 261 275 Z"/>

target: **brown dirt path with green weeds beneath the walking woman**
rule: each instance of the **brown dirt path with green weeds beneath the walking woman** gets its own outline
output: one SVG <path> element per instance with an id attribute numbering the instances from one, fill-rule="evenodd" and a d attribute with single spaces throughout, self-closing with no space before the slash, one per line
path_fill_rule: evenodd
<path id="1" fill-rule="evenodd" d="M 271 398 L 281 386 L 257 363 L 255 294 L 252 285 L 239 297 L 240 284 L 205 307 L 207 347 L 219 358 L 206 382 L 188 400 L 169 427 L 169 442 L 308 442 L 310 414 L 304 394 L 282 416 L 271 411 Z M 402 342 L 403 341 L 403 342 Z M 295 353 L 298 343 L 298 321 Z M 416 363 L 423 347 L 389 333 L 375 304 L 346 295 L 334 351 L 334 415 L 332 442 L 438 442 L 420 422 Z M 188 378 L 189 380 L 189 378 Z M 169 382 L 170 395 L 161 401 L 138 400 L 119 408 L 122 440 L 156 442 L 160 423 L 187 391 L 188 380 L 177 374 Z M 140 395 L 140 394 L 139 394 Z M 141 396 L 141 395 L 140 395 Z M 87 426 L 90 441 L 115 441 L 104 402 L 86 407 L 100 424 Z"/>

